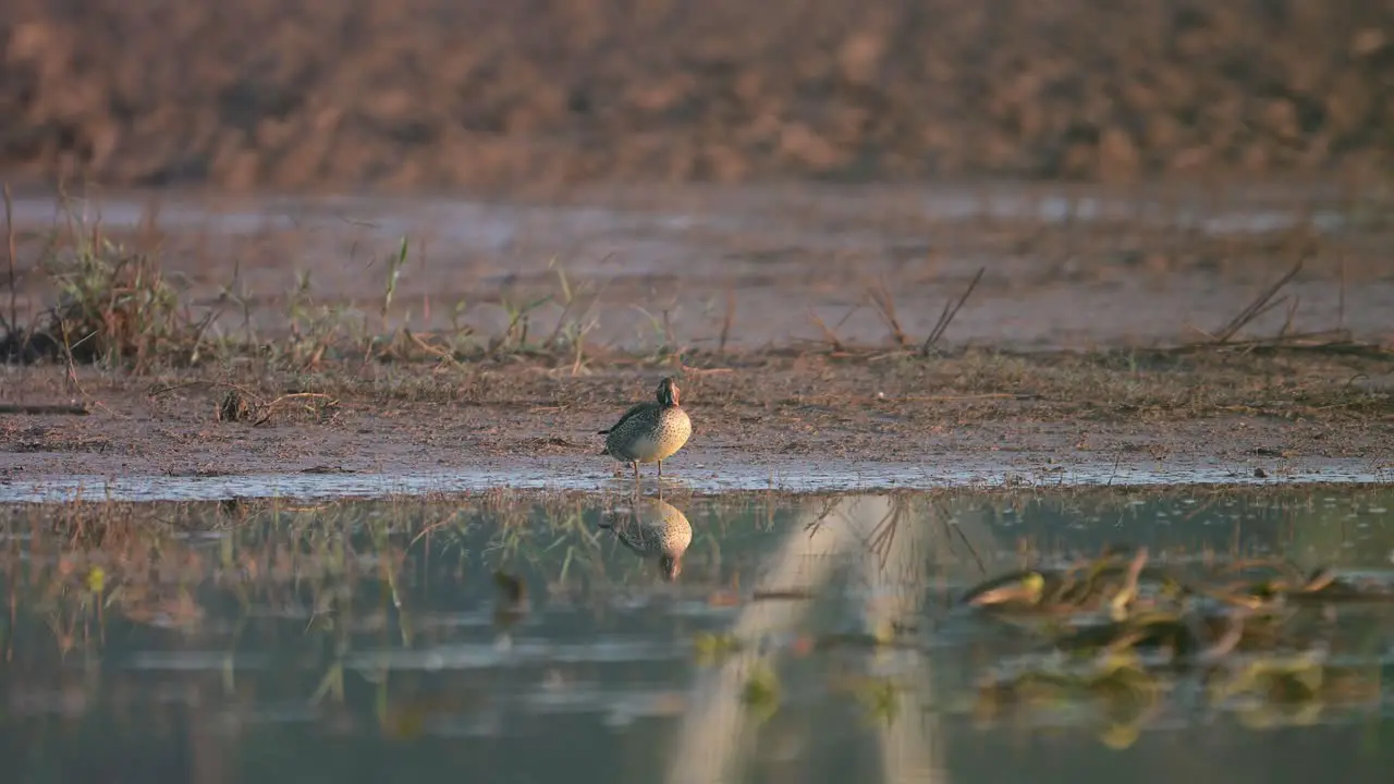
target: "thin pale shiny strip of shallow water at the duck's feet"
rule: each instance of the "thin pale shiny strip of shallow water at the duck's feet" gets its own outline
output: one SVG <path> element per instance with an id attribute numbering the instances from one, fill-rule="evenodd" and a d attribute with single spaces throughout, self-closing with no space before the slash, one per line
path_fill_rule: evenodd
<path id="1" fill-rule="evenodd" d="M 549 465 L 551 463 L 551 465 Z M 652 477 L 644 480 L 651 487 Z M 1273 484 L 1388 484 L 1388 466 L 1361 459 L 1319 459 L 1302 467 L 1256 476 L 1239 463 L 1098 460 L 1072 465 L 1004 465 L 995 455 L 953 466 L 877 463 L 825 458 L 743 465 L 725 460 L 719 470 L 697 465 L 669 476 L 665 487 L 684 492 L 877 492 L 1001 487 L 1177 487 L 1177 485 L 1273 485 Z M 229 476 L 45 476 L 36 480 L 0 477 L 0 504 L 39 504 L 78 499 L 103 501 L 217 501 L 222 498 L 375 498 L 441 492 L 484 492 L 495 488 L 539 491 L 591 491 L 627 488 L 629 477 L 613 470 L 579 467 L 574 460 L 546 458 L 528 466 L 498 470 L 411 473 L 269 473 Z"/>

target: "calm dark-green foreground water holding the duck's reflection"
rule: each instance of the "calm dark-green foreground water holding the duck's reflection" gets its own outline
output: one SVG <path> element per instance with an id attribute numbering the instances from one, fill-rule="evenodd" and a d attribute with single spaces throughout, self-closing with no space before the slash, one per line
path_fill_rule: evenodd
<path id="1" fill-rule="evenodd" d="M 990 714 L 987 678 L 1058 660 L 953 600 L 1107 543 L 1384 585 L 1394 491 L 4 506 L 4 780 L 1386 780 L 1394 603 L 1287 621 L 1320 700 L 1157 667 L 1150 702 Z"/>

